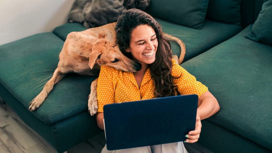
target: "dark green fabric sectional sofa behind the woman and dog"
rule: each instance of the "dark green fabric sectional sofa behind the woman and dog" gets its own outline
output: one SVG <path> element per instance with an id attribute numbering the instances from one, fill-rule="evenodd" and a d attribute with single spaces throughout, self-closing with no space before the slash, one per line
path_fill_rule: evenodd
<path id="1" fill-rule="evenodd" d="M 149 13 L 165 33 L 183 40 L 187 51 L 181 66 L 205 84 L 220 104 L 218 113 L 201 120 L 198 143 L 220 153 L 271 152 L 272 46 L 245 38 L 262 10 L 263 0 L 227 1 L 229 5 L 239 4 L 238 15 L 233 11 L 227 14 L 236 17 L 235 21 L 224 20 L 222 6 L 210 0 L 201 29 L 152 14 L 152 7 L 160 0 L 151 0 Z M 218 14 L 214 14 L 216 11 Z M 90 85 L 98 76 L 68 74 L 40 108 L 28 111 L 28 103 L 52 77 L 68 33 L 85 29 L 80 23 L 67 23 L 53 32 L 0 46 L 0 97 L 57 152 L 102 132 L 87 111 Z M 179 56 L 178 45 L 171 42 L 171 47 L 172 54 Z"/>

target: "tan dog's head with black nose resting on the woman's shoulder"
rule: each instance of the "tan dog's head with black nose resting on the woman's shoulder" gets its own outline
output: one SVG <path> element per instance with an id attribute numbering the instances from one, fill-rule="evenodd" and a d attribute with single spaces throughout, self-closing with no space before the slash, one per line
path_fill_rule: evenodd
<path id="1" fill-rule="evenodd" d="M 122 54 L 116 43 L 108 41 L 104 30 L 98 34 L 98 39 L 92 46 L 89 59 L 91 69 L 95 62 L 128 72 L 136 72 L 142 68 L 141 64 Z"/>

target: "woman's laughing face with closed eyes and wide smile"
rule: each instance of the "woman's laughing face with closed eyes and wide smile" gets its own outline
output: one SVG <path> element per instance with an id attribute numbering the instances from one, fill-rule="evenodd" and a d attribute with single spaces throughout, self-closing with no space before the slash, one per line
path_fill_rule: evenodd
<path id="1" fill-rule="evenodd" d="M 156 33 L 147 24 L 139 25 L 131 32 L 130 48 L 127 50 L 135 61 L 141 65 L 151 64 L 155 61 L 158 40 Z"/>

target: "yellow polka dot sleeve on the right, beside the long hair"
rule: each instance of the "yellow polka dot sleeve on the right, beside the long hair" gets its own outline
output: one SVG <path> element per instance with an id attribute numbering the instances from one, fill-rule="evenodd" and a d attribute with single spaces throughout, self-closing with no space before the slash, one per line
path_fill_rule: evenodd
<path id="1" fill-rule="evenodd" d="M 175 60 L 172 66 L 172 76 L 180 76 L 178 79 L 173 79 L 173 82 L 178 86 L 178 92 L 180 95 L 196 94 L 198 98 L 208 91 L 208 88 L 199 81 L 196 81 L 196 77 L 187 72 L 183 67 L 176 64 Z"/>

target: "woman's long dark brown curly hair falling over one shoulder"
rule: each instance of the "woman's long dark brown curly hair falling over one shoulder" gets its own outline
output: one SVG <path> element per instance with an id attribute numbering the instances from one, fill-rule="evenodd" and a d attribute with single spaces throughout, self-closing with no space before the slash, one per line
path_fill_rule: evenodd
<path id="1" fill-rule="evenodd" d="M 118 19 L 115 26 L 116 43 L 119 45 L 121 52 L 130 59 L 132 55 L 126 52 L 130 47 L 131 32 L 137 26 L 147 24 L 151 26 L 158 39 L 158 47 L 155 55 L 155 61 L 148 65 L 151 78 L 155 84 L 154 95 L 157 97 L 174 96 L 177 86 L 173 83 L 174 77 L 171 75 L 172 55 L 169 41 L 164 39 L 162 29 L 158 22 L 149 14 L 139 9 L 129 9 Z"/>

